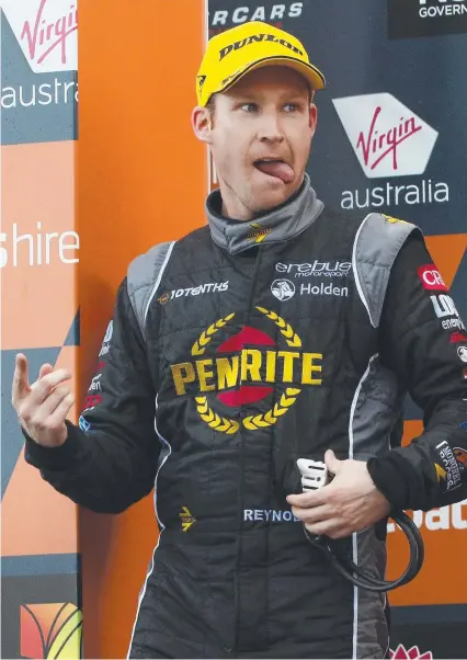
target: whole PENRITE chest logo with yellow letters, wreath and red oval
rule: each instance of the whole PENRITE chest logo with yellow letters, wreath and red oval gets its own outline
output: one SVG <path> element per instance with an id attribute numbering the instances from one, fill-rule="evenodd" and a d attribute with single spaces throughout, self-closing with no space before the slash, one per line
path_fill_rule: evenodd
<path id="1" fill-rule="evenodd" d="M 300 338 L 285 319 L 263 307 L 257 309 L 274 323 L 291 350 L 277 350 L 274 339 L 269 334 L 244 326 L 240 332 L 224 341 L 213 357 L 205 357 L 213 338 L 235 318 L 235 314 L 230 314 L 201 333 L 191 349 L 192 362 L 172 364 L 170 367 L 175 395 L 185 396 L 187 386 L 193 386 L 201 419 L 210 429 L 228 435 L 236 433 L 240 423 L 250 431 L 275 424 L 295 403 L 301 391 L 299 386 L 322 383 L 322 354 L 301 351 Z M 242 407 L 244 413 L 246 405 L 265 399 L 274 392 L 277 384 L 284 385 L 285 391 L 282 396 L 277 395 L 274 406 L 265 413 L 247 414 L 240 421 L 220 417 L 210 408 L 207 399 L 207 392 L 213 392 L 220 403 L 229 408 Z"/>

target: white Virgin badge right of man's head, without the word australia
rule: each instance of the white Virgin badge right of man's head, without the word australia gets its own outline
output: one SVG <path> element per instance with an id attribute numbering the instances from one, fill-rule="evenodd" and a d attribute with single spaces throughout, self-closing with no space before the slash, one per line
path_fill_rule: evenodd
<path id="1" fill-rule="evenodd" d="M 392 94 L 346 96 L 333 104 L 368 179 L 423 174 L 437 132 Z"/>

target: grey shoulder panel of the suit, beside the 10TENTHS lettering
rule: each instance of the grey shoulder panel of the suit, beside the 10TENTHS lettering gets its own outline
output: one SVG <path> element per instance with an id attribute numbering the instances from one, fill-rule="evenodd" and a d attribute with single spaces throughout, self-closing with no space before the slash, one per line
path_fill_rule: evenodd
<path id="1" fill-rule="evenodd" d="M 126 281 L 129 301 L 143 337 L 149 305 L 159 288 L 174 244 L 175 241 L 168 241 L 153 246 L 145 254 L 136 257 L 128 266 Z"/>

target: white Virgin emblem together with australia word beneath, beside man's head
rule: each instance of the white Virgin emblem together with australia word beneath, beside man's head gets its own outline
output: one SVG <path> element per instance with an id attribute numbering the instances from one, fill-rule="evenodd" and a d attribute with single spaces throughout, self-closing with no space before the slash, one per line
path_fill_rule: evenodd
<path id="1" fill-rule="evenodd" d="M 334 99 L 333 104 L 368 179 L 413 177 L 425 172 L 437 132 L 392 94 Z M 411 184 L 386 184 L 344 191 L 342 208 L 448 202 L 446 183 L 422 179 Z"/>

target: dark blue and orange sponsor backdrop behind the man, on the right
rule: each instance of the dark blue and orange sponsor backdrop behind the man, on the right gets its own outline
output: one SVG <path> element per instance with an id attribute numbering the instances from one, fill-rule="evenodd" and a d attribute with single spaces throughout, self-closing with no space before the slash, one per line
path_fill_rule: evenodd
<path id="1" fill-rule="evenodd" d="M 307 167 L 318 196 L 417 224 L 466 319 L 467 0 L 210 0 L 207 37 L 254 20 L 293 33 L 326 76 Z M 405 442 L 421 418 L 408 398 Z M 467 500 L 413 517 L 426 559 L 389 595 L 391 653 L 465 657 L 467 576 L 455 567 L 467 553 Z M 391 524 L 388 557 L 394 578 L 408 553 Z"/>

